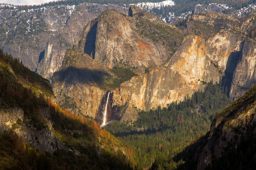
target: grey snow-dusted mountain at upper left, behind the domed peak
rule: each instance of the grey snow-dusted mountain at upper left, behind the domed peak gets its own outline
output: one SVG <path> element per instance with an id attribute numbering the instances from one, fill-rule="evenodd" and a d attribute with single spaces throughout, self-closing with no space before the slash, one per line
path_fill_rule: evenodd
<path id="1" fill-rule="evenodd" d="M 83 27 L 106 9 L 128 9 L 115 5 L 84 3 L 20 9 L 1 5 L 0 47 L 25 66 L 51 81 L 67 48 L 73 46 Z"/>

